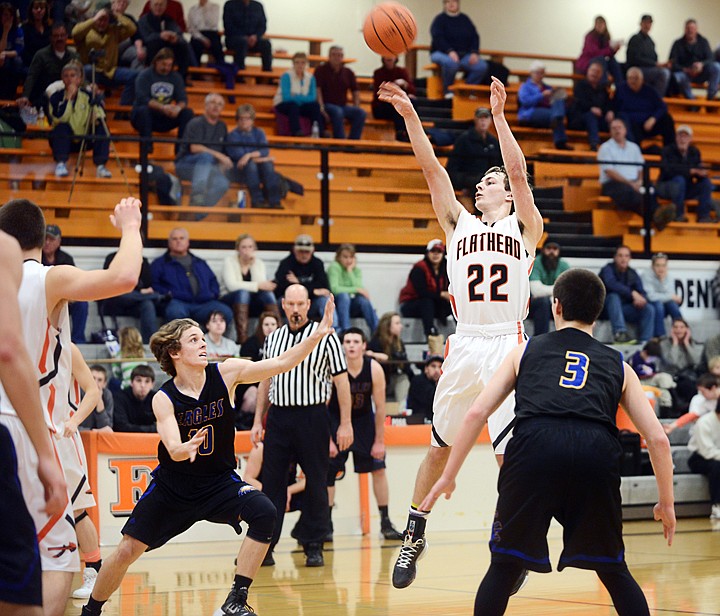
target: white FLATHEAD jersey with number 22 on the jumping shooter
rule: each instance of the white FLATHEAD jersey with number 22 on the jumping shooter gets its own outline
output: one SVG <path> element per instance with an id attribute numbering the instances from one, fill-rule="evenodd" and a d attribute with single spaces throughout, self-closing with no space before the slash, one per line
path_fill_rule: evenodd
<path id="1" fill-rule="evenodd" d="M 447 249 L 458 325 L 523 321 L 530 304 L 532 264 L 515 214 L 487 225 L 463 209 Z"/>

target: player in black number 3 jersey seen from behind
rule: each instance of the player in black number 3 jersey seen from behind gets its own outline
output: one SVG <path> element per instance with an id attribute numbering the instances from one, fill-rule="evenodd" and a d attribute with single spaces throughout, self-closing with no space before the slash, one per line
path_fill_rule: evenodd
<path id="1" fill-rule="evenodd" d="M 633 369 L 592 338 L 604 301 L 603 283 L 587 270 L 557 279 L 557 331 L 532 337 L 503 361 L 465 416 L 447 466 L 421 505 L 429 510 L 440 494 L 450 497 L 488 416 L 514 389 L 517 425 L 500 469 L 491 564 L 476 615 L 503 614 L 523 569 L 551 571 L 546 536 L 553 517 L 564 528 L 558 570 L 594 570 L 618 614 L 650 613 L 625 563 L 618 403 L 647 441 L 659 494 L 654 515 L 668 545 L 675 534 L 670 444 Z"/>

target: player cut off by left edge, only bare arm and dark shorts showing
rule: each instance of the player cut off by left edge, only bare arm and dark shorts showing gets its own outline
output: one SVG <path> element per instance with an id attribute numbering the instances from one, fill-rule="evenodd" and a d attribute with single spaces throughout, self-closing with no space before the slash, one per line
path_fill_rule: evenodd
<path id="1" fill-rule="evenodd" d="M 27 434 L 26 446 L 44 488 L 47 515 L 62 513 L 67 489 L 43 421 L 33 364 L 22 336 L 17 293 L 22 279 L 18 242 L 0 232 L 0 381 L 3 396 L 17 406 L 16 420 Z M 16 451 L 8 429 L 0 425 L 0 614 L 42 616 L 42 587 L 37 533 L 18 484 Z"/>

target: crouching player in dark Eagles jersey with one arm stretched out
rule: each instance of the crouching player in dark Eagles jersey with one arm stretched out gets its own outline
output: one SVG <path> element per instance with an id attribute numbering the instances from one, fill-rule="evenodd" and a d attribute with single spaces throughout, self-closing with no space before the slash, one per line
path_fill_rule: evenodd
<path id="1" fill-rule="evenodd" d="M 232 589 L 217 615 L 246 616 L 248 587 L 257 573 L 275 525 L 275 507 L 236 472 L 235 409 L 238 383 L 255 383 L 299 364 L 332 332 L 334 302 L 317 330 L 285 353 L 258 362 L 226 359 L 208 364 L 202 330 L 192 319 L 163 325 L 150 339 L 160 367 L 173 377 L 153 398 L 160 434 L 153 481 L 122 529 L 115 552 L 103 562 L 83 616 L 97 616 L 120 586 L 127 568 L 146 550 L 160 547 L 195 522 L 226 523 L 247 537 L 237 557 Z"/>

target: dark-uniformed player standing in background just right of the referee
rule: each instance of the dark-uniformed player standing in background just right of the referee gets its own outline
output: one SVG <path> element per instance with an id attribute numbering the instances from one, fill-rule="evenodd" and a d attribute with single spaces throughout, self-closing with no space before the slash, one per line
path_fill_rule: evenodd
<path id="1" fill-rule="evenodd" d="M 367 338 L 358 327 L 350 327 L 342 335 L 343 350 L 348 365 L 350 395 L 352 400 L 352 425 L 354 440 L 350 449 L 339 451 L 334 440 L 330 442 L 330 467 L 328 471 L 328 502 L 332 516 L 335 501 L 335 478 L 345 468 L 352 451 L 356 473 L 372 473 L 373 492 L 380 512 L 380 532 L 385 539 L 402 540 L 400 533 L 390 521 L 388 514 L 389 489 L 385 474 L 385 372 L 374 359 L 365 355 Z M 373 402 L 375 410 L 373 412 Z M 330 411 L 330 434 L 340 425 L 340 406 L 337 391 L 333 387 L 328 405 Z M 332 517 L 330 519 L 332 534 Z"/>

